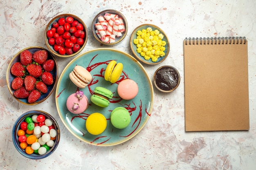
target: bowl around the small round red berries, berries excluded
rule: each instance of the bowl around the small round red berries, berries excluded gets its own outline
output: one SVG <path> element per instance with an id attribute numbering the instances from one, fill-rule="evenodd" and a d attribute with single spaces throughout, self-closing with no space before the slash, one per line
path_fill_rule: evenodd
<path id="1" fill-rule="evenodd" d="M 81 23 L 83 25 L 83 31 L 84 31 L 84 35 L 83 36 L 84 36 L 84 38 L 83 38 L 83 45 L 80 45 L 80 49 L 78 51 L 76 51 L 75 53 L 72 53 L 72 54 L 61 55 L 58 51 L 54 50 L 54 46 L 53 45 L 49 44 L 49 38 L 47 38 L 47 31 L 52 29 L 52 24 L 54 22 L 57 22 L 60 18 L 66 18 L 66 17 L 72 17 L 74 20 L 78 21 L 79 23 Z M 74 35 L 74 33 L 71 33 L 71 35 Z M 88 39 L 88 31 L 87 31 L 87 27 L 86 27 L 85 23 L 83 22 L 83 20 L 81 20 L 81 18 L 79 18 L 76 15 L 72 15 L 72 14 L 57 15 L 56 17 L 52 18 L 52 20 L 50 20 L 50 22 L 47 24 L 46 29 L 45 29 L 45 43 L 46 43 L 46 46 L 49 49 L 49 51 L 51 51 L 51 53 L 53 53 L 54 55 L 56 55 L 58 57 L 72 57 L 72 56 L 80 53 L 83 50 L 83 48 L 85 47 L 87 39 Z"/>

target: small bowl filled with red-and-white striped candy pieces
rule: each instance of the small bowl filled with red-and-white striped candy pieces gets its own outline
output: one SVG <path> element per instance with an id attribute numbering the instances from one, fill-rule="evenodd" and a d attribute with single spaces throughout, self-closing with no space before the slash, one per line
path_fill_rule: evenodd
<path id="1" fill-rule="evenodd" d="M 108 24 L 111 23 L 111 20 L 112 20 L 110 18 L 114 18 L 115 22 L 119 23 L 119 26 L 117 26 L 117 29 L 112 29 L 112 31 L 111 29 L 107 29 Z M 110 22 L 108 22 L 109 20 Z M 100 22 L 105 24 L 99 24 Z M 99 26 L 97 26 L 97 24 Z M 115 23 L 112 25 L 113 27 L 115 27 Z M 126 18 L 119 11 L 116 11 L 113 9 L 107 9 L 107 10 L 101 11 L 94 17 L 92 21 L 92 33 L 94 35 L 94 38 L 97 41 L 99 41 L 101 44 L 104 44 L 107 46 L 116 45 L 122 40 L 124 40 L 127 34 L 127 31 L 128 31 L 128 24 L 127 24 Z M 112 35 L 110 36 L 105 35 L 108 33 Z"/>

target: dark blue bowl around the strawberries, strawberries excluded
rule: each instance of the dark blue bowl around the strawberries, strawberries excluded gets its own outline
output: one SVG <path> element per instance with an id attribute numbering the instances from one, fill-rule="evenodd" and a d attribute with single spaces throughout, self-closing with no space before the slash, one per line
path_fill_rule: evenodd
<path id="1" fill-rule="evenodd" d="M 42 95 L 40 96 L 40 98 L 34 102 L 34 103 L 29 103 L 27 98 L 25 99 L 21 99 L 21 98 L 17 98 L 13 95 L 14 91 L 13 88 L 11 87 L 11 82 L 13 81 L 13 79 L 16 77 L 14 75 L 11 74 L 11 66 L 16 63 L 16 62 L 20 62 L 20 53 L 24 50 L 28 50 L 30 51 L 32 54 L 38 50 L 46 50 L 48 53 L 48 58 L 47 59 L 52 59 L 54 60 L 54 69 L 50 72 L 52 73 L 52 77 L 53 77 L 53 84 L 52 85 L 47 85 L 47 93 L 42 93 Z M 50 53 L 47 49 L 40 47 L 40 46 L 31 46 L 31 47 L 27 47 L 25 49 L 22 49 L 21 51 L 19 51 L 16 55 L 14 55 L 14 57 L 11 59 L 11 62 L 9 63 L 9 66 L 7 68 L 7 73 L 6 73 L 6 81 L 7 81 L 7 86 L 9 89 L 9 92 L 11 93 L 11 95 L 20 103 L 22 104 L 26 104 L 26 105 L 35 105 L 35 104 L 39 104 L 43 101 L 45 101 L 54 91 L 54 88 L 56 87 L 56 83 L 58 80 L 58 65 L 57 62 L 54 58 L 54 56 L 52 55 L 52 53 Z"/>

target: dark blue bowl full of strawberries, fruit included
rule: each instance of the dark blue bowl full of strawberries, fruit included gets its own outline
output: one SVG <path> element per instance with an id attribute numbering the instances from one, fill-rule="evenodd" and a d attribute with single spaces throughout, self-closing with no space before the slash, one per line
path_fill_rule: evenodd
<path id="1" fill-rule="evenodd" d="M 26 105 L 45 101 L 54 91 L 57 79 L 58 65 L 54 56 L 40 46 L 27 47 L 14 55 L 6 74 L 9 92 Z"/>

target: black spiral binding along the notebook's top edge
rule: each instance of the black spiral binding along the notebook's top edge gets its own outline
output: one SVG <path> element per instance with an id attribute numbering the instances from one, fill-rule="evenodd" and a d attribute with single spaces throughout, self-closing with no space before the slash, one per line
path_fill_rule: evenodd
<path id="1" fill-rule="evenodd" d="M 246 44 L 245 37 L 185 38 L 185 45 Z"/>

